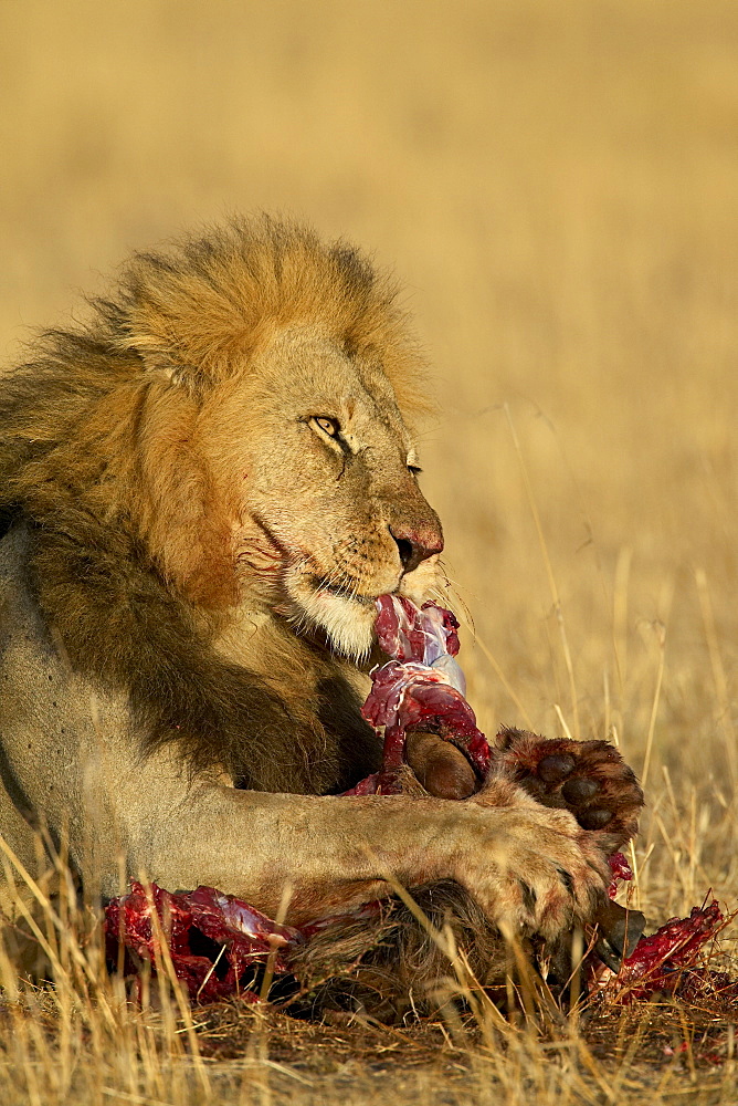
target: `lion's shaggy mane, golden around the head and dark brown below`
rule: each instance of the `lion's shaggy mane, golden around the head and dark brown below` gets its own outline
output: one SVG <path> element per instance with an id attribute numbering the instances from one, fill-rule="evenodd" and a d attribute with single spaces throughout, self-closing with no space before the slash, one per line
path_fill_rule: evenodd
<path id="1" fill-rule="evenodd" d="M 31 525 L 44 613 L 73 665 L 127 690 L 151 742 L 177 740 L 196 768 L 264 791 L 347 786 L 377 757 L 349 685 L 326 679 L 326 709 L 301 710 L 203 637 L 199 612 L 232 601 L 233 572 L 191 430 L 293 325 L 380 364 L 412 410 L 420 358 L 393 282 L 345 243 L 236 219 L 135 255 L 92 309 L 85 328 L 45 332 L 0 394 L 0 518 Z"/>

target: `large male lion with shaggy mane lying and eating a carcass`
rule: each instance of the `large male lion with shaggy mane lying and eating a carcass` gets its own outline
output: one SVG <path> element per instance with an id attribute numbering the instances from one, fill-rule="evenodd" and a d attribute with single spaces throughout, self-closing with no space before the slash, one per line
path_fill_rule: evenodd
<path id="1" fill-rule="evenodd" d="M 611 747 L 516 760 L 542 739 L 512 731 L 467 786 L 425 734 L 414 794 L 340 794 L 381 761 L 360 713 L 375 601 L 443 585 L 413 429 L 424 365 L 394 281 L 264 217 L 138 253 L 91 303 L 1 387 L 0 826 L 18 862 L 35 870 L 42 828 L 103 897 L 145 874 L 301 925 L 401 884 L 455 888 L 497 936 L 591 920 L 641 805 Z M 458 801 L 453 780 L 434 793 L 433 758 Z"/>

